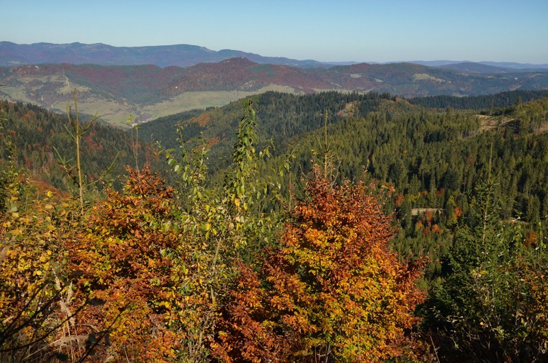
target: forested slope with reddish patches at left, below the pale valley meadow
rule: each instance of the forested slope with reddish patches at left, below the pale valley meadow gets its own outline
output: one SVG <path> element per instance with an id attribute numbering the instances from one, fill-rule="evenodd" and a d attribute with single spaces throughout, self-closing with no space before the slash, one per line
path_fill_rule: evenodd
<path id="1" fill-rule="evenodd" d="M 70 173 L 62 170 L 60 162 L 75 166 L 76 147 L 71 138 L 66 114 L 55 114 L 29 103 L 0 101 L 0 159 L 14 158 L 18 166 L 30 171 L 38 180 L 55 188 L 71 188 Z M 80 115 L 81 120 L 89 116 Z M 128 132 L 105 123 L 93 123 L 82 137 L 82 170 L 87 182 L 97 179 L 112 164 L 104 182 L 119 185 L 126 166 L 136 166 L 132 138 Z M 57 153 L 58 151 L 58 153 Z M 157 163 L 158 158 L 146 144 L 136 148 L 138 162 Z M 12 155 L 12 156 L 10 156 Z"/>

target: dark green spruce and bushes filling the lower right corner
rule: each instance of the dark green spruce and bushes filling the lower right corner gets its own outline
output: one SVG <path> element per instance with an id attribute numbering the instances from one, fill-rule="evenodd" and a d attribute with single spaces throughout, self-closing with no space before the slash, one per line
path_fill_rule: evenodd
<path id="1" fill-rule="evenodd" d="M 536 292 L 548 284 L 536 277 L 548 255 L 534 251 L 544 238 L 536 234 L 527 242 L 519 220 L 503 225 L 493 187 L 490 177 L 477 187 L 471 218 L 447 256 L 447 273 L 432 290 L 430 313 L 445 341 L 469 360 L 542 360 L 547 330 L 533 322 L 543 319 Z"/>

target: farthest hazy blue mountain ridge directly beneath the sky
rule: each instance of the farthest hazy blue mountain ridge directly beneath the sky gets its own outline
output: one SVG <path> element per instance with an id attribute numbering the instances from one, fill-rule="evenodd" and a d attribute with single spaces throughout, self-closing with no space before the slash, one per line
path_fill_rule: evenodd
<path id="1" fill-rule="evenodd" d="M 199 63 L 217 63 L 229 58 L 244 57 L 251 62 L 259 64 L 277 64 L 293 66 L 297 68 L 318 68 L 332 66 L 348 66 L 361 62 L 319 62 L 316 60 L 295 60 L 285 57 L 264 57 L 256 53 L 221 49 L 212 51 L 198 45 L 155 45 L 144 47 L 114 47 L 102 43 L 83 44 L 73 42 L 70 44 L 53 44 L 39 42 L 31 45 L 19 45 L 14 42 L 0 42 L 0 66 L 18 66 L 25 64 L 98 64 L 101 66 L 132 66 L 153 64 L 162 68 L 166 66 L 187 67 Z M 379 62 L 367 62 L 379 64 Z M 384 62 L 382 64 L 401 63 Z M 523 64 L 516 62 L 469 62 L 454 60 L 413 60 L 408 63 L 421 64 L 423 66 L 444 66 L 457 69 L 455 64 L 483 64 L 496 68 L 479 68 L 484 71 L 471 71 L 471 73 L 512 73 L 516 70 L 523 71 L 548 71 L 548 64 Z M 462 68 L 462 67 L 461 67 Z M 501 68 L 501 69 L 498 69 Z"/>

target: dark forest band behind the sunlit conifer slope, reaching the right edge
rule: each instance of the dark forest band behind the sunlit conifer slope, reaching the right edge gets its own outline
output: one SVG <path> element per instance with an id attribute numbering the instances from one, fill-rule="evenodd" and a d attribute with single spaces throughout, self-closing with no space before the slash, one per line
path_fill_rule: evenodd
<path id="1" fill-rule="evenodd" d="M 384 112 L 388 119 L 393 119 L 397 114 L 407 114 L 412 110 L 423 112 L 425 108 L 473 109 L 473 114 L 486 114 L 495 112 L 495 108 L 510 110 L 519 99 L 526 102 L 547 96 L 548 91 L 540 90 L 512 91 L 473 97 L 424 97 L 405 101 L 388 93 L 376 92 L 369 92 L 366 95 L 357 92 L 347 94 L 321 92 L 316 95 L 265 92 L 256 96 L 255 99 L 259 108 L 260 140 L 262 142 L 273 140 L 273 145 L 278 148 L 275 151 L 277 153 L 287 145 L 295 144 L 301 136 L 323 127 L 325 112 L 327 112 L 329 125 L 349 118 L 366 116 L 370 112 L 379 111 L 381 105 L 385 105 Z M 197 138 L 200 133 L 203 133 L 212 145 L 212 153 L 217 156 L 223 155 L 223 150 L 229 149 L 231 145 L 240 110 L 241 103 L 236 101 L 223 108 L 210 108 L 203 113 L 195 110 L 158 118 L 141 125 L 141 137 L 147 141 L 161 140 L 164 146 L 175 147 L 177 134 L 174 130 L 177 123 L 180 123 L 184 126 L 185 140 Z M 371 132 L 375 134 L 375 129 Z M 225 153 L 225 156 L 227 155 Z M 214 164 L 220 165 L 220 159 L 215 158 Z"/>

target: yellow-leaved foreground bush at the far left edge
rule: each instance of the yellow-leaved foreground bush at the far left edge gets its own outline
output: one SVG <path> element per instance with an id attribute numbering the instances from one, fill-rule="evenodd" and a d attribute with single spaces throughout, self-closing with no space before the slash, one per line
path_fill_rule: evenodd
<path id="1" fill-rule="evenodd" d="M 66 287 L 60 245 L 67 214 L 25 175 L 7 192 L 8 209 L 0 211 L 0 361 L 51 359 L 64 320 L 58 303 Z"/>

